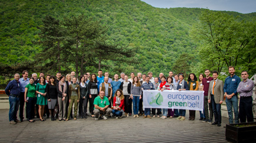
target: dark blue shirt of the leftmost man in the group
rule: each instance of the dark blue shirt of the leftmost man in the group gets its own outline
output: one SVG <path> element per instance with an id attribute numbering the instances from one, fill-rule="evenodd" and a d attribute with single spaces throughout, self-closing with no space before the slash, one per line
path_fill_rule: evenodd
<path id="1" fill-rule="evenodd" d="M 21 93 L 21 82 L 16 80 L 10 81 L 5 88 L 5 93 L 7 94 L 7 96 L 9 96 L 10 94 L 19 96 L 19 94 Z"/>

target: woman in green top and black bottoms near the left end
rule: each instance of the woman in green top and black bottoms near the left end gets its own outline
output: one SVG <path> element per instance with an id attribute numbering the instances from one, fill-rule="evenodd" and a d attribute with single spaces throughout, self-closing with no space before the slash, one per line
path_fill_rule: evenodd
<path id="1" fill-rule="evenodd" d="M 29 84 L 25 87 L 25 94 L 24 94 L 24 100 L 26 102 L 26 107 L 28 109 L 28 121 L 29 122 L 35 122 L 33 120 L 33 115 L 35 111 L 35 103 L 36 103 L 36 96 L 35 96 L 35 84 L 34 79 L 31 77 L 29 79 Z"/>

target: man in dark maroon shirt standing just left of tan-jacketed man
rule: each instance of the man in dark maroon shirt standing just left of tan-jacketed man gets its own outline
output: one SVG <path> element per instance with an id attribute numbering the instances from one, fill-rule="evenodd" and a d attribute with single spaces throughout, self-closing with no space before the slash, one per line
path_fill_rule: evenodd
<path id="1" fill-rule="evenodd" d="M 210 76 L 210 70 L 205 69 L 204 74 L 205 78 L 202 79 L 202 85 L 204 86 L 204 113 L 205 113 L 205 120 L 202 120 L 202 122 L 208 122 L 209 124 L 212 123 L 213 118 L 213 111 L 212 111 L 212 105 L 211 103 L 208 103 L 208 91 L 209 91 L 209 84 L 210 81 L 213 80 L 213 78 Z M 209 111 L 210 111 L 210 117 L 209 117 Z"/>

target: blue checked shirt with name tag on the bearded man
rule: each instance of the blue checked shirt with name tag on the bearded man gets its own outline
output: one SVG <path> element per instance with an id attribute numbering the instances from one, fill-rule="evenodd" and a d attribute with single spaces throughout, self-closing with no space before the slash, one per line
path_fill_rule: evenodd
<path id="1" fill-rule="evenodd" d="M 237 87 L 240 83 L 241 79 L 237 75 L 229 76 L 225 79 L 224 83 L 224 93 L 227 93 L 228 95 L 234 93 L 237 95 Z"/>

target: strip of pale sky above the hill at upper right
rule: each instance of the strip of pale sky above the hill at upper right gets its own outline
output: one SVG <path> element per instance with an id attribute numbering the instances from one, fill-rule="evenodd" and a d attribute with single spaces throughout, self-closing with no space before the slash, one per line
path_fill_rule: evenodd
<path id="1" fill-rule="evenodd" d="M 156 8 L 208 8 L 215 11 L 256 12 L 256 0 L 141 0 Z"/>

